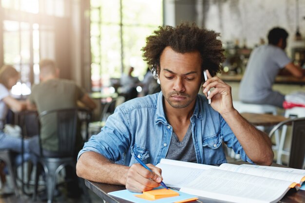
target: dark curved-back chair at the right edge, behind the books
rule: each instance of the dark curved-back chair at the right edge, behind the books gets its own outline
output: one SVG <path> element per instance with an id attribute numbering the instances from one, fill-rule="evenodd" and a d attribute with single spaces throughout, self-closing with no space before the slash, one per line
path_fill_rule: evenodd
<path id="1" fill-rule="evenodd" d="M 276 126 L 269 133 L 271 138 L 276 131 L 285 127 L 286 125 L 291 124 L 291 135 L 292 142 L 289 153 L 289 162 L 288 166 L 292 168 L 303 169 L 305 167 L 305 117 L 302 118 L 291 118 L 286 121 L 283 121 Z M 282 157 L 280 157 L 281 159 Z"/>

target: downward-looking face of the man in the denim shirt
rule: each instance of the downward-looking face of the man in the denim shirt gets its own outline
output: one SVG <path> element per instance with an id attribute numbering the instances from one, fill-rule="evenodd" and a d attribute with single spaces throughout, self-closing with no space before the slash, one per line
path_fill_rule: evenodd
<path id="1" fill-rule="evenodd" d="M 166 106 L 182 109 L 194 105 L 202 82 L 200 53 L 181 54 L 166 47 L 158 75 Z"/>

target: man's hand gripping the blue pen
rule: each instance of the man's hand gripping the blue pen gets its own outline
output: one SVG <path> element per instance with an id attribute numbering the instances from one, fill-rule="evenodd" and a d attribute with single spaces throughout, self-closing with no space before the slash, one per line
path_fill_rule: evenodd
<path id="1" fill-rule="evenodd" d="M 133 164 L 126 176 L 126 189 L 132 192 L 143 192 L 152 190 L 155 187 L 160 186 L 160 182 L 163 180 L 161 177 L 161 169 L 147 165 L 153 172 L 147 170 L 140 164 Z"/>

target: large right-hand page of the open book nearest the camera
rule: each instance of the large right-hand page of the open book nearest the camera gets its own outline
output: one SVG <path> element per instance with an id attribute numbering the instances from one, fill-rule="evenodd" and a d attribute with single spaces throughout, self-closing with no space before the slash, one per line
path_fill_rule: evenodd
<path id="1" fill-rule="evenodd" d="M 231 171 L 208 169 L 180 191 L 201 197 L 237 203 L 275 203 L 291 182 Z"/>

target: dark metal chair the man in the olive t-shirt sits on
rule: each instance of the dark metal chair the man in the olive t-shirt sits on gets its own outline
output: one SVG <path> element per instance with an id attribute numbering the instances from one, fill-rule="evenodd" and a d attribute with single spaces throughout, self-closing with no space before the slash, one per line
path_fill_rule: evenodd
<path id="1" fill-rule="evenodd" d="M 56 185 L 56 177 L 59 171 L 65 166 L 76 167 L 75 145 L 76 145 L 76 127 L 77 127 L 77 109 L 62 109 L 43 111 L 39 114 L 39 120 L 46 116 L 54 115 L 57 119 L 57 138 L 58 150 L 50 153 L 42 148 L 40 137 L 40 157 L 38 162 L 42 164 L 45 171 L 46 189 L 48 203 L 53 202 L 54 190 Z M 33 200 L 36 200 L 38 189 L 38 177 L 40 173 L 40 165 L 37 164 L 35 188 Z"/>

